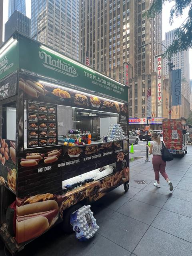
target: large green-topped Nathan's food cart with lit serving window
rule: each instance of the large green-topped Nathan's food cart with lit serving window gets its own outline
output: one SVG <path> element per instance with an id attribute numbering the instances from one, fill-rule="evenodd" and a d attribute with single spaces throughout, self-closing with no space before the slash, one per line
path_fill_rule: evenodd
<path id="1" fill-rule="evenodd" d="M 0 79 L 0 237 L 14 254 L 68 231 L 79 202 L 128 190 L 128 139 L 106 141 L 110 124 L 128 135 L 128 87 L 19 33 L 0 48 Z M 90 144 L 66 142 L 78 130 Z"/>

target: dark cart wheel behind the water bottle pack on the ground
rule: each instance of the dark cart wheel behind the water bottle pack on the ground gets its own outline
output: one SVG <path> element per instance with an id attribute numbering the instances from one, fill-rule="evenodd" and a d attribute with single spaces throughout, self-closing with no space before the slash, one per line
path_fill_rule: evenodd
<path id="1" fill-rule="evenodd" d="M 73 212 L 81 208 L 83 204 L 78 203 L 63 211 L 62 229 L 65 234 L 72 234 L 73 227 L 70 224 L 70 217 Z"/>

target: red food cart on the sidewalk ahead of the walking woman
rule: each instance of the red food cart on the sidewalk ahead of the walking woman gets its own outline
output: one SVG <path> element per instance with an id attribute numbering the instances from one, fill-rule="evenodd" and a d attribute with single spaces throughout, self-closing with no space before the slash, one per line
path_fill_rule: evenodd
<path id="1" fill-rule="evenodd" d="M 163 120 L 163 140 L 170 153 L 183 157 L 187 153 L 187 138 L 182 119 Z"/>

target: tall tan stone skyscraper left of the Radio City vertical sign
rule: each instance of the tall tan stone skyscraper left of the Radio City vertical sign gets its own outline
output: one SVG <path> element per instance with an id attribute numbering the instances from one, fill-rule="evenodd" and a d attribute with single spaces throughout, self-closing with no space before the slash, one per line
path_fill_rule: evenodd
<path id="1" fill-rule="evenodd" d="M 81 0 L 79 59 L 123 82 L 123 64 L 128 62 L 129 114 L 146 116 L 146 93 L 151 86 L 154 56 L 161 53 L 162 16 L 148 20 L 144 12 L 151 0 Z M 154 84 L 156 86 L 156 84 Z"/>

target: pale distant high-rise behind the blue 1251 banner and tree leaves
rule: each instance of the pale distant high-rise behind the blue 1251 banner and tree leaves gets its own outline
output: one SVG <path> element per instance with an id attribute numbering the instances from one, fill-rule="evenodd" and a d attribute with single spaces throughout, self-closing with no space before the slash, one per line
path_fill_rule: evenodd
<path id="1" fill-rule="evenodd" d="M 163 41 L 163 44 L 168 47 L 170 44 L 172 44 L 175 36 L 175 29 L 171 30 L 169 32 L 165 33 L 165 40 Z M 175 65 L 173 69 L 179 69 L 181 68 L 182 72 L 182 79 L 189 82 L 189 50 L 177 52 L 176 54 L 173 54 L 171 61 Z M 163 60 L 163 74 L 167 75 L 169 74 L 169 67 L 167 65 L 167 58 L 164 58 Z"/>

